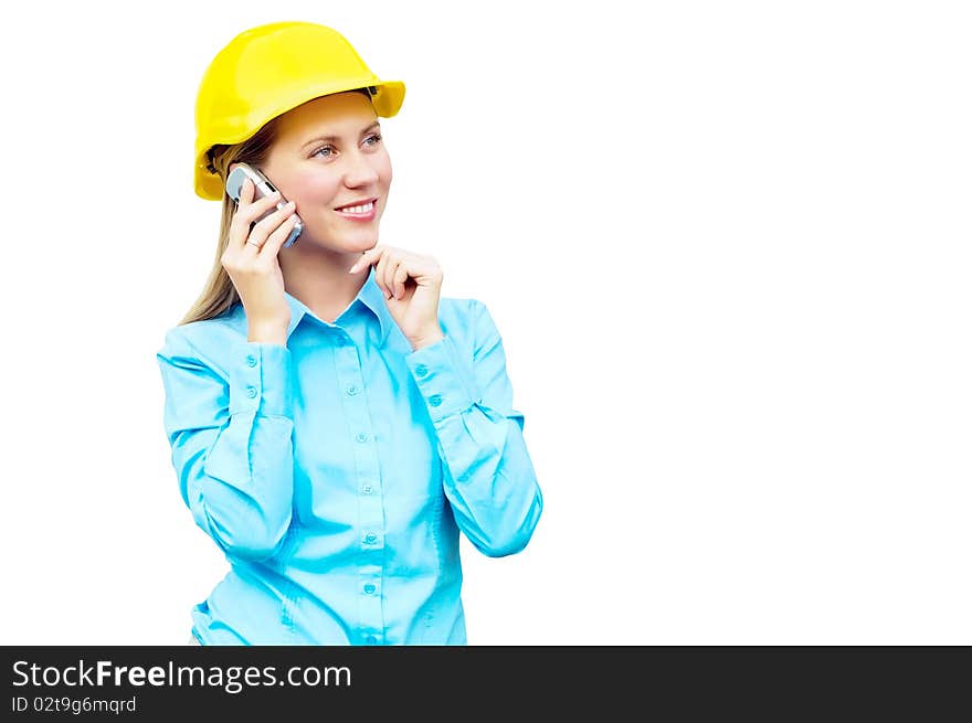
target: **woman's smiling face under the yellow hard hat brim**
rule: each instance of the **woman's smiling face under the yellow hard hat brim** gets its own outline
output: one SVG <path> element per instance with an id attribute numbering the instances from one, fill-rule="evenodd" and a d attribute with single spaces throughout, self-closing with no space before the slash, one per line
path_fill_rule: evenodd
<path id="1" fill-rule="evenodd" d="M 360 254 L 378 243 L 391 159 L 378 116 L 362 94 L 315 98 L 284 114 L 261 170 L 296 204 L 304 222 L 295 251 L 314 244 Z M 347 209 L 353 205 L 366 208 Z"/>

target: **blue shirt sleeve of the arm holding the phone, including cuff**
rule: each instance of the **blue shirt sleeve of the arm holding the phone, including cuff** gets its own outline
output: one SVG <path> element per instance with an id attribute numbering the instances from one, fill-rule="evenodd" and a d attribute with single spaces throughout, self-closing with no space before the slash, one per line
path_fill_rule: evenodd
<path id="1" fill-rule="evenodd" d="M 156 354 L 165 429 L 182 500 L 229 555 L 263 560 L 290 524 L 294 398 L 290 351 L 239 342 L 218 374 L 178 327 Z"/>

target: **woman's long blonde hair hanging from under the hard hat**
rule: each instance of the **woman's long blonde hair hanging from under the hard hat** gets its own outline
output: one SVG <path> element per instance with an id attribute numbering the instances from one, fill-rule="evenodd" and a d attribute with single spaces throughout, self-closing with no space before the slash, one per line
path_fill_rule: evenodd
<path id="1" fill-rule="evenodd" d="M 363 94 L 369 100 L 371 99 L 370 88 L 355 88 L 356 93 Z M 309 102 L 308 102 L 309 103 Z M 264 126 L 253 136 L 234 146 L 216 145 L 210 149 L 210 170 L 219 174 L 226 184 L 230 166 L 235 162 L 247 163 L 255 168 L 262 167 L 267 157 L 270 149 L 273 147 L 277 138 L 277 126 L 279 118 L 271 118 Z M 216 254 L 213 259 L 212 268 L 202 289 L 202 294 L 189 309 L 178 326 L 190 323 L 192 321 L 202 321 L 212 319 L 228 311 L 236 301 L 240 295 L 226 269 L 223 268 L 222 256 L 226 251 L 230 241 L 230 223 L 233 221 L 233 213 L 236 211 L 236 202 L 230 198 L 230 194 L 223 192 L 223 212 L 220 219 L 220 235 L 216 242 Z"/>

